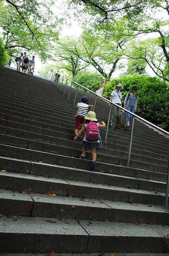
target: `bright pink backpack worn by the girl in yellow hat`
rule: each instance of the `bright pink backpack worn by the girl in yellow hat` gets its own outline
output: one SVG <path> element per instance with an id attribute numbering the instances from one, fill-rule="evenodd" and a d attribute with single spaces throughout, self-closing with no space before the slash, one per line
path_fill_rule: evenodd
<path id="1" fill-rule="evenodd" d="M 97 123 L 91 121 L 86 125 L 86 140 L 89 142 L 99 140 L 99 127 Z"/>

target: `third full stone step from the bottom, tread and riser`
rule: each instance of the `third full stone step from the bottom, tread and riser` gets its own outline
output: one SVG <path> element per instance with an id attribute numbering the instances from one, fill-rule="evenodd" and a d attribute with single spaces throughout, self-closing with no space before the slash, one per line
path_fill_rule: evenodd
<path id="1" fill-rule="evenodd" d="M 58 196 L 93 198 L 113 202 L 134 202 L 138 204 L 164 205 L 163 192 L 123 188 L 92 182 L 63 180 L 32 174 L 0 172 L 1 189 Z M 133 179 L 134 180 L 134 179 Z"/>

